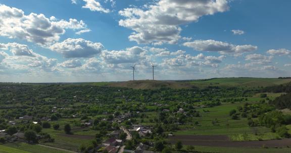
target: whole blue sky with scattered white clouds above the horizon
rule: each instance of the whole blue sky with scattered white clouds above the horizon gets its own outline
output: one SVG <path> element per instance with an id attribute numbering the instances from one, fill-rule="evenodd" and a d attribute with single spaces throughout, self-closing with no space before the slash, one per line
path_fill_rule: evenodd
<path id="1" fill-rule="evenodd" d="M 289 77 L 289 1 L 0 0 L 2 82 Z"/>

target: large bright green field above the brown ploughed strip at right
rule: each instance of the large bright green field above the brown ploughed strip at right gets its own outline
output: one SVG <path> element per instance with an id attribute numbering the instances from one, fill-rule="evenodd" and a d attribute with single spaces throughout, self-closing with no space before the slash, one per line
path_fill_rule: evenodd
<path id="1" fill-rule="evenodd" d="M 260 94 L 254 97 L 248 98 L 248 102 L 256 102 L 262 100 L 259 97 Z M 272 98 L 279 96 L 280 94 L 267 94 Z M 197 109 L 202 117 L 193 117 L 193 122 L 198 121 L 199 125 L 184 125 L 179 126 L 179 131 L 174 132 L 176 135 L 229 135 L 233 140 L 254 140 L 254 139 L 276 139 L 277 134 L 270 134 L 270 129 L 266 127 L 252 128 L 248 126 L 247 118 L 239 118 L 233 120 L 229 116 L 230 110 L 236 109 L 238 106 L 242 106 L 246 102 L 236 103 L 222 103 L 220 106 L 211 108 Z M 207 110 L 209 112 L 204 112 Z M 213 124 L 213 120 L 218 120 L 218 123 Z M 254 136 L 256 131 L 259 131 L 260 136 Z M 247 134 L 245 139 L 241 138 L 241 135 Z"/>

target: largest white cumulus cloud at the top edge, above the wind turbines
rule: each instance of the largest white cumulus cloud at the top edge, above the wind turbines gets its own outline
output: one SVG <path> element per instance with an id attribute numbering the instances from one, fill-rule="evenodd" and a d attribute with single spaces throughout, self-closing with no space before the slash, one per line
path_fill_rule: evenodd
<path id="1" fill-rule="evenodd" d="M 174 44 L 181 38 L 179 25 L 198 21 L 202 16 L 228 10 L 227 0 L 161 0 L 146 10 L 126 8 L 119 25 L 134 32 L 129 40 L 137 43 Z"/>

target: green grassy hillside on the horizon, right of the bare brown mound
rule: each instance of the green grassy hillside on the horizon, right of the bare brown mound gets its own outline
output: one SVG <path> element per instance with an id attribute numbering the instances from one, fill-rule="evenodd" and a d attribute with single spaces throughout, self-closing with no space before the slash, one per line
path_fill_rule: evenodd
<path id="1" fill-rule="evenodd" d="M 189 81 L 187 83 L 198 86 L 240 86 L 240 87 L 267 87 L 291 82 L 291 79 L 276 78 L 217 78 L 209 80 Z"/>

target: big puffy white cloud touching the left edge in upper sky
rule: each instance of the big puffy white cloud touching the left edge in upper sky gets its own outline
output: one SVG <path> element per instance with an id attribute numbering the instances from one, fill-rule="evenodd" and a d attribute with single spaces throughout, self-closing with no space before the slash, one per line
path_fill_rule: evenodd
<path id="1" fill-rule="evenodd" d="M 18 38 L 48 46 L 60 39 L 65 29 L 87 29 L 83 21 L 57 21 L 55 17 L 46 18 L 43 14 L 24 12 L 17 8 L 0 5 L 0 36 Z"/>

